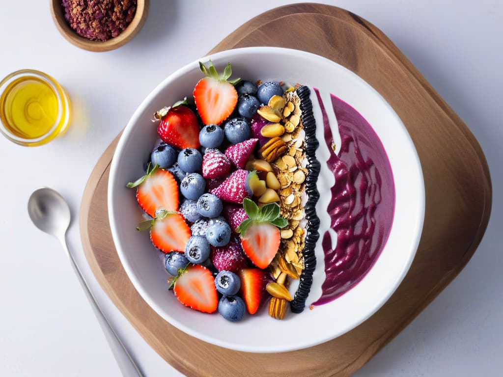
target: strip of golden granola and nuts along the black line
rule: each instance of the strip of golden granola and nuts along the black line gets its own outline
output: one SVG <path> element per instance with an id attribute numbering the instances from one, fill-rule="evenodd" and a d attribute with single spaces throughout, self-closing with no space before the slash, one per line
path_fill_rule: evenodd
<path id="1" fill-rule="evenodd" d="M 283 98 L 276 98 L 267 107 L 259 109 L 262 117 L 273 122 L 262 130 L 262 135 L 271 139 L 259 153 L 271 163 L 280 183 L 280 213 L 288 221 L 288 225 L 280 231 L 279 252 L 270 264 L 277 283 L 285 286 L 288 286 L 288 276 L 298 279 L 304 268 L 302 251 L 306 236 L 304 206 L 308 170 L 301 113 L 300 98 L 295 90 L 287 91 Z M 284 318 L 284 300 L 278 296 L 271 300 L 269 314 L 272 317 Z"/>

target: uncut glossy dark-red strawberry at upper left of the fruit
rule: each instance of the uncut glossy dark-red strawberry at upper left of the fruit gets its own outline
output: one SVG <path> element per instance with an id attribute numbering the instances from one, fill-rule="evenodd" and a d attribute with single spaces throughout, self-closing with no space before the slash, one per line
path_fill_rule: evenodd
<path id="1" fill-rule="evenodd" d="M 180 149 L 197 149 L 201 146 L 196 115 L 184 105 L 167 109 L 167 113 L 160 119 L 157 126 L 157 133 L 162 141 Z"/>

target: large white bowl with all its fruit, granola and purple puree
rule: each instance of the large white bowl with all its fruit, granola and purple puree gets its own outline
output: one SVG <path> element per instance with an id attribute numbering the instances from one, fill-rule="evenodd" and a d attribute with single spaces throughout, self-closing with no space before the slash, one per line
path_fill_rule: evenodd
<path id="1" fill-rule="evenodd" d="M 222 347 L 284 352 L 389 299 L 425 194 L 406 128 L 368 83 L 314 54 L 250 47 L 186 65 L 143 101 L 112 160 L 108 211 L 158 315 Z"/>

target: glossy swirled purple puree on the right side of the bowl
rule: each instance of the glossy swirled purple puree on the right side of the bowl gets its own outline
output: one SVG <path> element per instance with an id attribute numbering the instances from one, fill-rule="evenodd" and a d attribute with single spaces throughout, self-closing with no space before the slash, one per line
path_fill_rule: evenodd
<path id="1" fill-rule="evenodd" d="M 321 297 L 313 303 L 321 305 L 357 285 L 379 257 L 393 222 L 395 186 L 388 156 L 375 131 L 355 109 L 331 95 L 341 135 L 336 155 L 323 102 L 314 90 L 330 150 L 326 164 L 335 177 L 327 212 L 337 233 L 335 249 L 330 233 L 322 235 L 326 278 Z"/>

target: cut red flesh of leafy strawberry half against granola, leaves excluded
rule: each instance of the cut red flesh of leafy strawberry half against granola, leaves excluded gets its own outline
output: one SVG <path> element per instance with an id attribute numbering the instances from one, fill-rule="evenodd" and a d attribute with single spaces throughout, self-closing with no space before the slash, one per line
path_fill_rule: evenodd
<path id="1" fill-rule="evenodd" d="M 280 230 L 270 223 L 251 225 L 241 235 L 244 253 L 259 268 L 267 268 L 280 247 Z"/>

